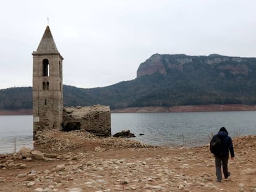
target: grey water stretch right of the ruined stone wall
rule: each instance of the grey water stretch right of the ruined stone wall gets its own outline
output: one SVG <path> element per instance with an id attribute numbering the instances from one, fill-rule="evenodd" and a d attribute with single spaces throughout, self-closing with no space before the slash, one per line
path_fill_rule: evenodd
<path id="1" fill-rule="evenodd" d="M 200 146 L 221 127 L 232 137 L 255 135 L 256 111 L 111 114 L 112 133 L 130 130 L 137 140 L 155 145 Z"/>

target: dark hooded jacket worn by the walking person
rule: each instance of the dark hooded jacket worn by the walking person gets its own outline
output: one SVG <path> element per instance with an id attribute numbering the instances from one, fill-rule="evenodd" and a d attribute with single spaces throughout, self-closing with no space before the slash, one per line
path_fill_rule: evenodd
<path id="1" fill-rule="evenodd" d="M 226 128 L 221 128 L 218 132 L 218 137 L 221 140 L 221 150 L 220 150 L 220 157 L 228 157 L 229 152 L 231 154 L 231 157 L 234 157 L 234 148 L 232 139 L 230 136 L 228 136 L 228 131 Z"/>

